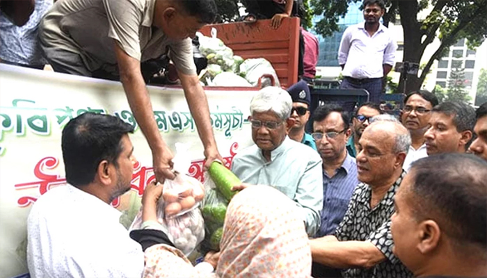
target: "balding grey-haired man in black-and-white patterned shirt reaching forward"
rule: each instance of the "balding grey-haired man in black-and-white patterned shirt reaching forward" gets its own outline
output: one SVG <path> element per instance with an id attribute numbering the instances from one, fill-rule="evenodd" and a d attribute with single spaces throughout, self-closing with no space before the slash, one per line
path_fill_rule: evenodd
<path id="1" fill-rule="evenodd" d="M 334 235 L 310 240 L 313 261 L 344 268 L 346 278 L 413 277 L 392 253 L 390 217 L 411 142 L 408 130 L 392 119 L 377 116 L 362 134 L 357 154 L 361 183 Z"/>

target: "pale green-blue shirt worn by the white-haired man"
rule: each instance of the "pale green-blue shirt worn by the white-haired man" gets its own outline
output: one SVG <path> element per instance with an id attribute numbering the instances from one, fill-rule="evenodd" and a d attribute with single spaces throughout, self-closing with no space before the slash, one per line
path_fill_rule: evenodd
<path id="1" fill-rule="evenodd" d="M 314 236 L 323 208 L 321 165 L 318 152 L 286 137 L 271 152 L 271 161 L 266 161 L 257 145 L 242 149 L 233 158 L 232 172 L 244 183 L 272 186 L 294 200 L 306 232 Z"/>

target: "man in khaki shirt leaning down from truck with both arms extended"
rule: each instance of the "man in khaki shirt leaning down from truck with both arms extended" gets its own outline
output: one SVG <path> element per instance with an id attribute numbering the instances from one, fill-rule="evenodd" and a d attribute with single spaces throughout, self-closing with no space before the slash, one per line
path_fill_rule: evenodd
<path id="1" fill-rule="evenodd" d="M 158 181 L 173 179 L 173 153 L 161 138 L 141 62 L 168 54 L 175 63 L 210 165 L 218 153 L 191 38 L 216 17 L 214 0 L 62 0 L 40 23 L 40 41 L 56 72 L 120 79 L 150 149 Z"/>

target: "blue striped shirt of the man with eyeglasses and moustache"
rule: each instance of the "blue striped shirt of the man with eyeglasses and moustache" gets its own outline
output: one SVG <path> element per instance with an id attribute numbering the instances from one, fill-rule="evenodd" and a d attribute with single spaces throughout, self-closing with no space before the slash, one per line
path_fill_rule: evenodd
<path id="1" fill-rule="evenodd" d="M 344 218 L 353 190 L 358 183 L 357 163 L 349 154 L 346 155 L 342 166 L 335 170 L 335 176 L 332 178 L 323 171 L 323 211 L 321 211 L 321 227 L 317 236 L 335 233 L 335 229 Z"/>

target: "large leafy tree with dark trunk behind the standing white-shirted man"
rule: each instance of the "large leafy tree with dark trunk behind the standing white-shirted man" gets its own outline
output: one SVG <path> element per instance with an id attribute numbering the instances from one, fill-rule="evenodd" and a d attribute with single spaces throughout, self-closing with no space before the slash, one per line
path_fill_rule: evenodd
<path id="1" fill-rule="evenodd" d="M 330 35 L 338 31 L 338 19 L 346 14 L 349 3 L 360 0 L 311 0 L 314 13 L 323 15 L 317 23 L 317 33 Z M 384 25 L 395 22 L 399 15 L 404 31 L 403 61 L 420 63 L 426 47 L 435 38 L 440 39 L 440 46 L 429 58 L 420 76 L 408 76 L 406 92 L 419 90 L 426 74 L 431 70 L 435 60 L 438 60 L 450 46 L 462 38 L 467 38 L 470 47 L 478 47 L 487 37 L 487 0 L 385 0 L 386 13 L 383 17 Z M 431 8 L 431 12 L 424 20 L 417 18 L 417 14 Z M 404 81 L 401 76 L 399 91 L 403 91 Z"/>

